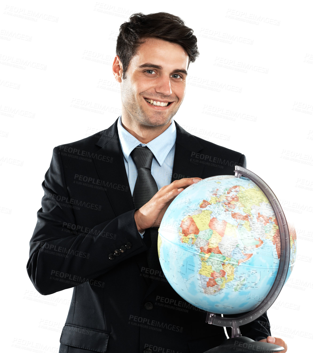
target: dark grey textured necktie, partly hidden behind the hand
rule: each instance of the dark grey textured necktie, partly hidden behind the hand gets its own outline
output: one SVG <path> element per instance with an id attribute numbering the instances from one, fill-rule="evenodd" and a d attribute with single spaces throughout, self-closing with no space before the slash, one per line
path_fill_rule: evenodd
<path id="1" fill-rule="evenodd" d="M 147 146 L 137 146 L 132 152 L 131 156 L 137 166 L 138 175 L 133 191 L 133 202 L 135 208 L 142 207 L 145 203 L 158 192 L 158 187 L 154 177 L 151 174 L 151 165 L 153 153 Z M 158 241 L 158 227 L 150 228 L 151 247 L 148 250 L 148 266 L 150 269 L 161 269 L 158 258 L 157 241 Z M 145 236 L 145 235 L 144 235 Z"/>

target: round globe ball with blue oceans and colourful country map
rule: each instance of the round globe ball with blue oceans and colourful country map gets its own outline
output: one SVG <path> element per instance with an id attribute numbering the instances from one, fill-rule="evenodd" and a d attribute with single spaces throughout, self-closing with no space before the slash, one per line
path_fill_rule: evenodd
<path id="1" fill-rule="evenodd" d="M 288 229 L 285 282 L 296 259 L 296 233 Z M 183 299 L 202 310 L 253 310 L 275 281 L 278 222 L 263 191 L 248 178 L 219 175 L 188 186 L 169 205 L 158 232 L 165 277 Z"/>

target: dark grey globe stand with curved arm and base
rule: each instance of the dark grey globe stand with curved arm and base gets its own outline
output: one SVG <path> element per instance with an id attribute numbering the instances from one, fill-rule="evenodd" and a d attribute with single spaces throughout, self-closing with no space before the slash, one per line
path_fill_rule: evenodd
<path id="1" fill-rule="evenodd" d="M 206 316 L 206 322 L 209 324 L 223 326 L 223 327 L 231 327 L 231 337 L 222 343 L 222 345 L 209 349 L 204 353 L 229 353 L 229 352 L 245 352 L 245 353 L 254 353 L 254 352 L 281 352 L 284 350 L 283 347 L 277 346 L 273 343 L 267 342 L 258 342 L 249 339 L 248 337 L 243 337 L 240 333 L 239 326 L 245 325 L 257 319 L 262 315 L 263 312 L 268 310 L 270 306 L 274 303 L 278 294 L 281 292 L 284 282 L 287 278 L 288 273 L 288 265 L 290 261 L 290 235 L 287 225 L 287 220 L 285 218 L 283 209 L 278 202 L 277 197 L 270 189 L 270 187 L 258 177 L 258 175 L 251 172 L 246 168 L 240 167 L 238 165 L 235 166 L 235 177 L 240 178 L 241 175 L 250 179 L 255 185 L 257 185 L 265 194 L 267 199 L 269 200 L 278 222 L 280 240 L 281 240 L 281 252 L 278 270 L 276 274 L 275 281 L 266 295 L 264 300 L 257 306 L 255 309 L 243 314 L 240 317 L 236 318 L 228 318 L 221 317 L 216 315 L 215 313 L 208 312 Z"/>

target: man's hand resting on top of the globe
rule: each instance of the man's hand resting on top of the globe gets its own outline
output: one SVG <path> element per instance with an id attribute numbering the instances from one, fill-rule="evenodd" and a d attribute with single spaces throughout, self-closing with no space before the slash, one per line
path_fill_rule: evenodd
<path id="1" fill-rule="evenodd" d="M 186 187 L 197 183 L 201 178 L 182 178 L 164 185 L 149 202 L 139 208 L 134 214 L 137 229 L 140 233 L 150 227 L 159 227 L 165 211 L 174 198 Z"/>

